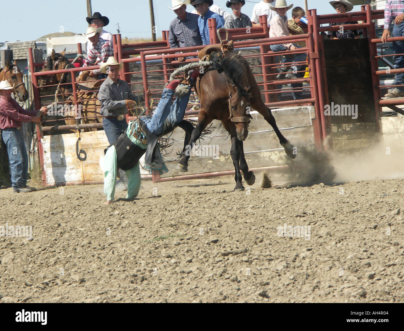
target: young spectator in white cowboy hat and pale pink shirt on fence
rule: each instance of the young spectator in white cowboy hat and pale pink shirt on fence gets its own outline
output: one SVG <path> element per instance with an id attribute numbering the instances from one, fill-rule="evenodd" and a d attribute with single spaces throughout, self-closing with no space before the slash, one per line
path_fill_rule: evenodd
<path id="1" fill-rule="evenodd" d="M 289 36 L 288 30 L 288 19 L 286 17 L 286 11 L 292 8 L 292 4 L 288 6 L 286 4 L 286 0 L 276 0 L 275 6 L 271 5 L 271 9 L 276 12 L 276 15 L 271 20 L 271 29 L 269 29 L 269 38 L 276 38 L 276 37 L 283 37 Z M 273 52 L 284 52 L 285 50 L 297 50 L 300 48 L 297 44 L 293 43 L 286 43 L 286 44 L 279 44 L 279 45 L 271 45 L 271 50 Z M 301 62 L 305 61 L 306 53 L 300 53 L 297 55 L 285 55 L 282 58 L 282 63 L 285 62 Z M 287 79 L 297 79 L 301 78 L 302 73 L 297 73 L 297 71 L 302 71 L 304 66 L 302 64 L 292 63 L 289 67 L 282 67 L 281 73 L 276 76 L 277 79 L 283 80 Z M 297 74 L 295 74 L 297 73 Z M 304 75 L 304 72 L 303 72 Z M 300 77 L 301 76 L 301 77 Z M 301 88 L 302 83 L 293 83 L 292 88 Z M 294 100 L 302 99 L 302 92 L 292 92 L 292 96 Z"/>

